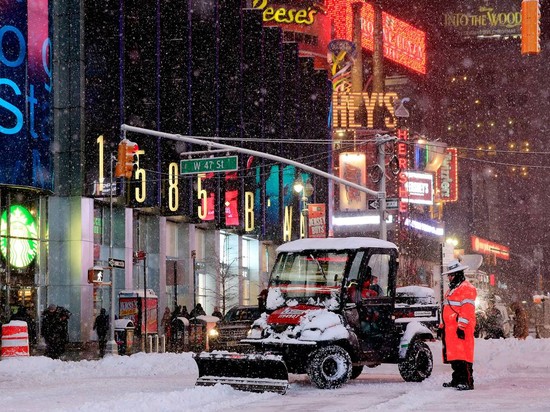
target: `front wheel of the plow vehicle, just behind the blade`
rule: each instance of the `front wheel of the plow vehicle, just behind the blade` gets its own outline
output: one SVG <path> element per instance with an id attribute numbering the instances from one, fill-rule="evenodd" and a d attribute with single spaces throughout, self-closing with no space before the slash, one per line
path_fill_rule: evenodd
<path id="1" fill-rule="evenodd" d="M 351 358 L 340 346 L 326 346 L 311 353 L 307 364 L 309 379 L 320 389 L 335 389 L 351 376 Z"/>

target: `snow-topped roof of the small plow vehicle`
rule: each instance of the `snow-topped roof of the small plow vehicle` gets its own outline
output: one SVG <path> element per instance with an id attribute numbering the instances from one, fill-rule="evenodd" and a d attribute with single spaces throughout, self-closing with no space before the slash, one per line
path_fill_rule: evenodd
<path id="1" fill-rule="evenodd" d="M 284 243 L 277 252 L 300 252 L 302 250 L 345 250 L 358 248 L 397 249 L 397 246 L 386 240 L 372 237 L 343 237 L 298 239 Z"/>

